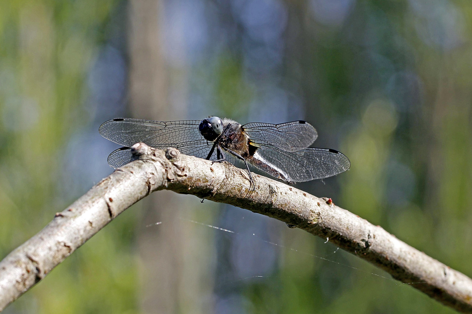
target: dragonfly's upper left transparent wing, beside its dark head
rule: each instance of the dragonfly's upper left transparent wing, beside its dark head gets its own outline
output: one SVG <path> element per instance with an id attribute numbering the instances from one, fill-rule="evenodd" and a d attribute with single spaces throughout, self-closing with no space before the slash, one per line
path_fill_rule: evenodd
<path id="1" fill-rule="evenodd" d="M 131 147 L 135 143 L 143 142 L 159 149 L 175 147 L 180 153 L 206 158 L 213 143 L 202 137 L 198 131 L 199 123 L 199 120 L 166 122 L 120 118 L 104 122 L 99 133 L 102 137 L 123 146 Z M 109 160 L 113 153 L 110 154 Z"/>

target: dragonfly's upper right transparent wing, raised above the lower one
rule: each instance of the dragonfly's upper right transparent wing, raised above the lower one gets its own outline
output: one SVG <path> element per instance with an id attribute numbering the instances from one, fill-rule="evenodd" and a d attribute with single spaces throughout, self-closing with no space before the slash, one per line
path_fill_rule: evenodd
<path id="1" fill-rule="evenodd" d="M 243 130 L 252 142 L 274 145 L 287 152 L 295 152 L 300 147 L 308 147 L 318 137 L 316 129 L 305 121 L 281 124 L 251 122 L 244 124 Z"/>

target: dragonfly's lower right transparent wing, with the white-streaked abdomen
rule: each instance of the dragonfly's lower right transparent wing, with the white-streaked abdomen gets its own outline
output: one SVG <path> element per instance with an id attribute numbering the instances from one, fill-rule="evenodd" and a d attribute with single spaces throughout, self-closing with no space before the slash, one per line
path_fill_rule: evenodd
<path id="1" fill-rule="evenodd" d="M 334 149 L 299 147 L 296 152 L 286 152 L 273 145 L 261 145 L 247 161 L 272 177 L 290 182 L 331 177 L 351 166 L 349 159 Z"/>

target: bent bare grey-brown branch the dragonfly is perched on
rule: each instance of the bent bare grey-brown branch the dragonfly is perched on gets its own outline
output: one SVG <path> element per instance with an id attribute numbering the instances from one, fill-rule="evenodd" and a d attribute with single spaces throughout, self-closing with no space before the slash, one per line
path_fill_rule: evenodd
<path id="1" fill-rule="evenodd" d="M 168 189 L 249 209 L 281 220 L 336 244 L 463 313 L 472 313 L 472 280 L 430 258 L 330 200 L 320 199 L 226 162 L 165 152 L 143 143 L 136 161 L 104 178 L 44 229 L 0 262 L 0 310 L 39 282 L 68 255 L 125 209 L 154 191 Z"/>

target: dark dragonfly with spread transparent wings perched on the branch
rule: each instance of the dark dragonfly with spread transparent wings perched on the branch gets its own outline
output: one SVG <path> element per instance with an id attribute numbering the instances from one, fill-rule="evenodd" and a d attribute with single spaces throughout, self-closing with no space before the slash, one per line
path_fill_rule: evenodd
<path id="1" fill-rule="evenodd" d="M 181 153 L 207 160 L 216 150 L 213 162 L 227 159 L 235 165 L 237 161 L 243 162 L 252 186 L 249 165 L 289 183 L 335 176 L 351 166 L 349 159 L 334 149 L 309 147 L 318 133 L 302 120 L 241 125 L 215 116 L 183 121 L 118 118 L 104 122 L 99 132 L 102 137 L 124 146 L 108 156 L 113 168 L 134 160 L 130 147 L 138 142 L 158 149 L 174 147 Z"/>

